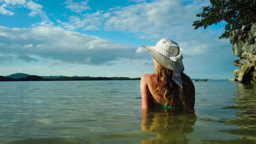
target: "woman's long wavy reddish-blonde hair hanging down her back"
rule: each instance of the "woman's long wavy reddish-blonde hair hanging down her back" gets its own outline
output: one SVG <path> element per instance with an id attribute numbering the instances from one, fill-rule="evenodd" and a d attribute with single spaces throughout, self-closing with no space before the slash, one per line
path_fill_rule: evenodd
<path id="1" fill-rule="evenodd" d="M 184 77 L 184 75 L 185 74 L 182 72 L 182 78 Z M 173 104 L 174 99 L 180 99 L 183 104 L 183 108 L 185 108 L 185 98 L 183 90 L 181 89 L 181 86 L 179 86 L 172 80 L 171 70 L 166 69 L 158 64 L 154 74 L 151 76 L 150 79 L 161 103 L 169 105 L 170 108 L 175 108 Z"/>

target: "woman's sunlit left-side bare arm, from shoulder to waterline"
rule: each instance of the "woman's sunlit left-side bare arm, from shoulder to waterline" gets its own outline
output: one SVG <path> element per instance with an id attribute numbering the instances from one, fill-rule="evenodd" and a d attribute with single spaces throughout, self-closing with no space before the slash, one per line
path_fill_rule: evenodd
<path id="1" fill-rule="evenodd" d="M 141 77 L 140 80 L 140 91 L 141 91 L 141 107 L 142 108 L 151 108 L 151 96 L 148 89 L 148 80 L 150 80 L 150 74 L 145 74 Z"/>

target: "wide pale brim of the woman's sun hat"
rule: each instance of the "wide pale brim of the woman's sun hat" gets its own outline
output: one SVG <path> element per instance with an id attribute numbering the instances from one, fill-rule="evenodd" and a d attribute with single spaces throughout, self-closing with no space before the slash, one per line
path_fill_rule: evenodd
<path id="1" fill-rule="evenodd" d="M 143 48 L 146 48 L 149 53 L 151 54 L 151 56 L 163 67 L 169 69 L 169 70 L 173 70 L 173 62 L 172 60 L 170 60 L 169 58 L 159 54 L 156 50 L 155 50 L 155 46 L 143 46 Z M 177 62 L 179 63 L 180 67 L 181 67 L 181 72 L 184 71 L 184 66 L 183 66 L 183 62 L 182 60 L 177 60 Z"/>

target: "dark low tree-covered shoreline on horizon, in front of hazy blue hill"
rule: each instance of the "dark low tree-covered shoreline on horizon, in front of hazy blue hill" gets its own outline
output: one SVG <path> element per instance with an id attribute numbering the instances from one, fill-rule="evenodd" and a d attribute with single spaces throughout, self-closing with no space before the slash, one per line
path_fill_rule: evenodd
<path id="1" fill-rule="evenodd" d="M 37 75 L 27 75 L 24 78 L 11 78 L 0 76 L 0 81 L 113 81 L 113 80 L 140 80 L 140 78 L 129 77 L 78 77 L 61 76 L 57 78 L 42 78 Z"/>

